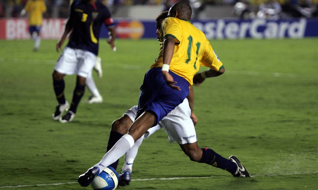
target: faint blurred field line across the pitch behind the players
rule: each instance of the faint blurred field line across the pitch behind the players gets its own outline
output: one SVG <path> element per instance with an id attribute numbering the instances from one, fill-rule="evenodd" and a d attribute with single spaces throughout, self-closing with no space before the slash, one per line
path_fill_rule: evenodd
<path id="1" fill-rule="evenodd" d="M 0 62 L 7 61 L 9 63 L 29 63 L 29 64 L 48 64 L 55 65 L 56 60 L 40 60 L 40 59 L 18 59 L 18 58 L 3 58 L 0 57 Z M 126 65 L 126 64 L 103 64 L 104 67 L 119 67 L 122 69 L 141 69 L 141 66 L 138 65 Z M 262 74 L 272 75 L 273 77 L 296 77 L 296 74 L 292 73 L 271 73 L 271 72 L 257 72 L 257 71 L 233 71 L 226 70 L 227 74 L 241 74 L 241 75 L 250 75 L 250 76 L 259 76 Z"/>

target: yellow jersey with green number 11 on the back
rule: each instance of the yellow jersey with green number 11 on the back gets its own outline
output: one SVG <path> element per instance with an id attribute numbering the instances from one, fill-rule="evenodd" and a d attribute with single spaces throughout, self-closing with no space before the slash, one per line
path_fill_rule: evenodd
<path id="1" fill-rule="evenodd" d="M 202 31 L 188 20 L 168 17 L 162 21 L 160 52 L 150 68 L 162 67 L 163 40 L 167 36 L 173 37 L 176 44 L 169 70 L 186 79 L 190 86 L 200 65 L 215 71 L 224 67 Z"/>

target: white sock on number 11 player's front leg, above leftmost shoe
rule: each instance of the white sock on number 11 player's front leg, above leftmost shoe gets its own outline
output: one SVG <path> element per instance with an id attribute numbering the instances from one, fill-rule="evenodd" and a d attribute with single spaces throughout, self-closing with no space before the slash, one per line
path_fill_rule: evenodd
<path id="1" fill-rule="evenodd" d="M 100 162 L 94 165 L 94 167 L 98 167 L 100 169 L 100 172 L 102 172 L 105 167 L 109 166 L 110 164 L 118 160 L 131 147 L 133 147 L 134 144 L 135 140 L 131 135 L 126 134 L 122 136 L 117 141 L 117 143 L 114 144 L 113 148 L 111 148 L 100 160 Z"/>

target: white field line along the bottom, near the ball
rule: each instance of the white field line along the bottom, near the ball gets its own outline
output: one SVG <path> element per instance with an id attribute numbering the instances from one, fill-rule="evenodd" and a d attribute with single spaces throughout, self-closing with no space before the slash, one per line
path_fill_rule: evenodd
<path id="1" fill-rule="evenodd" d="M 256 176 L 277 176 L 277 175 L 301 175 L 301 174 L 318 174 L 316 172 L 305 172 L 305 173 L 286 173 L 286 174 L 262 174 L 262 175 L 252 175 L 251 177 Z M 172 177 L 172 178 L 149 178 L 149 179 L 132 179 L 131 181 L 151 181 L 151 180 L 180 180 L 180 179 L 196 179 L 196 178 L 210 178 L 212 176 L 206 177 Z M 32 186 L 56 186 L 56 185 L 67 185 L 67 184 L 76 184 L 77 182 L 66 182 L 66 183 L 49 183 L 49 184 L 34 184 L 34 185 L 17 185 L 17 186 L 2 186 L 0 188 L 17 188 L 17 187 L 32 187 Z"/>

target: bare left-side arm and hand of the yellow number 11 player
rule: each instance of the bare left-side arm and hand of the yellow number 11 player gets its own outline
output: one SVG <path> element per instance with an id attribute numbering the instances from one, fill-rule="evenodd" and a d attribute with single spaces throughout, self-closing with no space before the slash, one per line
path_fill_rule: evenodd
<path id="1" fill-rule="evenodd" d="M 163 59 L 163 66 L 164 65 L 170 65 L 173 52 L 175 50 L 175 40 L 173 37 L 168 36 L 163 41 L 163 53 L 162 53 L 162 59 Z M 169 70 L 169 69 L 168 69 Z M 166 80 L 166 83 L 175 90 L 181 90 L 179 86 L 174 85 L 176 84 L 176 81 L 173 80 L 172 76 L 169 74 L 168 71 L 162 70 L 163 78 Z"/>

